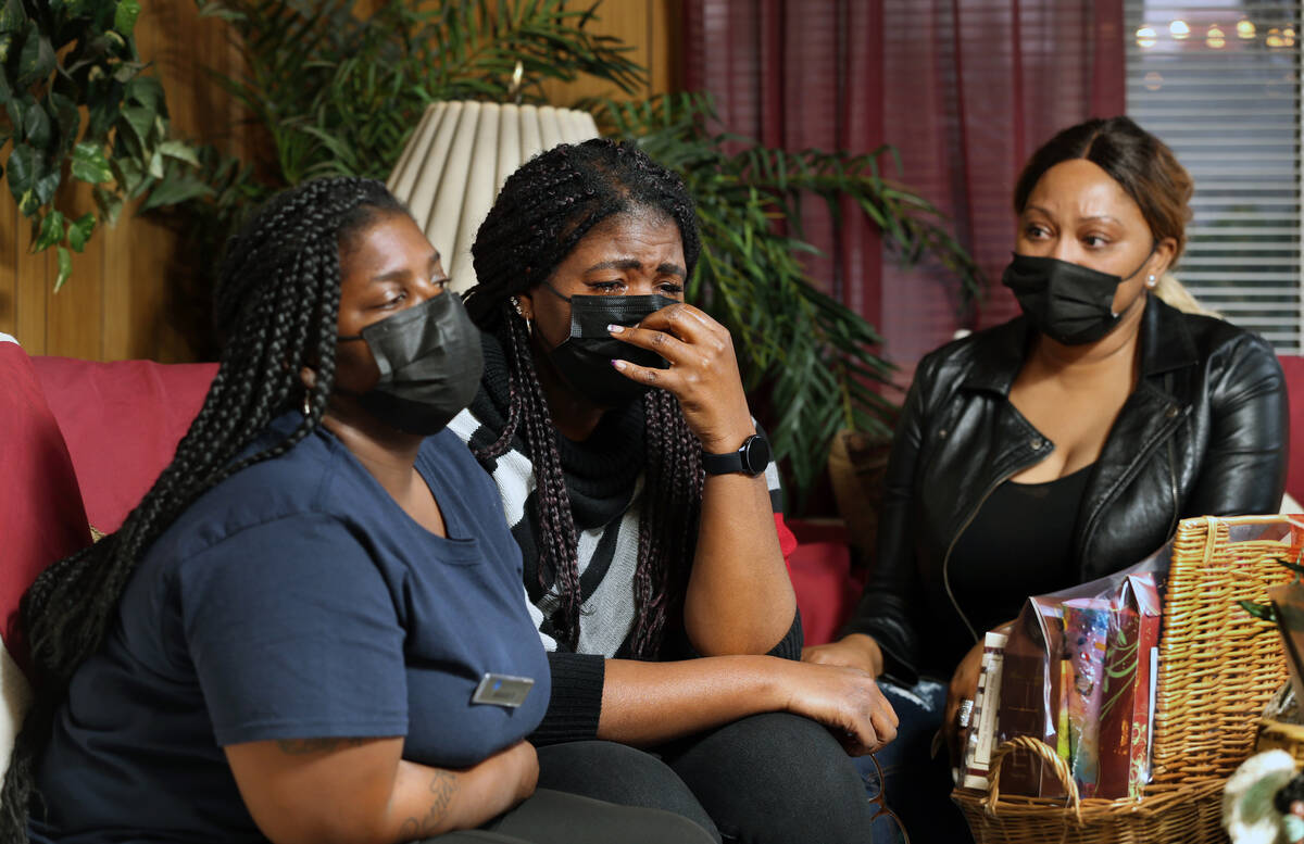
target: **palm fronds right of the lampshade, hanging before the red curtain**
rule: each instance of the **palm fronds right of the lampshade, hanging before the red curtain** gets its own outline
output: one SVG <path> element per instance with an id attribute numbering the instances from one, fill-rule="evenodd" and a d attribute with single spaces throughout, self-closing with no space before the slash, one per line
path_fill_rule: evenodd
<path id="1" fill-rule="evenodd" d="M 745 387 L 762 388 L 780 410 L 765 421 L 799 508 L 837 430 L 887 434 L 896 409 L 885 396 L 895 367 L 875 353 L 878 332 L 819 289 L 799 260 L 815 251 L 802 240 L 802 203 L 823 201 L 835 224 L 848 204 L 858 208 L 902 262 L 939 260 L 969 296 L 981 289 L 981 271 L 936 207 L 883 178 L 879 162 L 895 155 L 888 147 L 786 152 L 712 133 L 717 119 L 703 94 L 591 106 L 613 134 L 677 169 L 696 201 L 703 251 L 690 296 L 729 327 Z"/>

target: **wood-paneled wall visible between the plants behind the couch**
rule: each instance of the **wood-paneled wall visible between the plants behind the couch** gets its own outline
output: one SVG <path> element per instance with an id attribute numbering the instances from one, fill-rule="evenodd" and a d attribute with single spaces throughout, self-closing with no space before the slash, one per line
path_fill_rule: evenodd
<path id="1" fill-rule="evenodd" d="M 575 8 L 589 4 L 571 0 Z M 682 0 L 605 0 L 597 14 L 601 20 L 593 30 L 621 38 L 648 68 L 640 95 L 681 87 Z M 236 66 L 226 26 L 201 18 L 193 0 L 145 0 L 136 35 L 142 59 L 154 63 L 167 90 L 175 130 L 252 158 L 254 133 L 205 70 L 230 73 Z M 615 94 L 613 86 L 593 79 L 548 87 L 557 104 Z M 76 214 L 93 208 L 89 189 L 72 190 L 63 195 Z M 73 255 L 72 277 L 55 293 L 53 251 L 31 254 L 30 242 L 27 220 L 8 189 L 0 189 L 0 332 L 18 337 L 30 354 L 194 359 L 185 328 L 194 302 L 183 290 L 188 268 L 214 262 L 216 255 L 183 254 L 175 232 L 128 208 L 116 227 L 100 227 L 86 251 Z"/>

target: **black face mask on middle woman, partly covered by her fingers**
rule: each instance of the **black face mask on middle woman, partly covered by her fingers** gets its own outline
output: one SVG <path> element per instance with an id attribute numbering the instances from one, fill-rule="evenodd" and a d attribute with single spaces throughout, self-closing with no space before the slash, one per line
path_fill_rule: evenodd
<path id="1" fill-rule="evenodd" d="M 636 326 L 648 314 L 678 305 L 668 296 L 571 296 L 557 292 L 544 283 L 553 296 L 570 302 L 571 332 L 548 358 L 566 383 L 600 408 L 618 408 L 634 401 L 651 387 L 630 380 L 612 366 L 612 361 L 629 361 L 648 369 L 670 369 L 670 363 L 657 354 L 630 345 L 612 336 L 608 326 Z"/>

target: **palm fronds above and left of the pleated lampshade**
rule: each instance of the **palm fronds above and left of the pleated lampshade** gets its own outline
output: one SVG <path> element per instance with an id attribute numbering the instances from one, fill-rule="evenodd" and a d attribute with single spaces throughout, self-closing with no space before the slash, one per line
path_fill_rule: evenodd
<path id="1" fill-rule="evenodd" d="M 565 0 L 197 0 L 231 25 L 245 63 L 215 74 L 275 147 L 266 193 L 325 173 L 383 178 L 421 112 L 441 99 L 506 99 L 519 60 L 539 82 L 595 74 L 629 92 L 643 81 L 630 47 L 585 30 Z"/>

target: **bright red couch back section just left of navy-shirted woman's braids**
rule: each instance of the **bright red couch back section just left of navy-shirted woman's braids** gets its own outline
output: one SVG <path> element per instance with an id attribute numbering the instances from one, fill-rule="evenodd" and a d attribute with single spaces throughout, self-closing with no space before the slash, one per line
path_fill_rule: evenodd
<path id="1" fill-rule="evenodd" d="M 59 419 L 90 524 L 117 530 L 172 461 L 216 363 L 31 358 Z"/>

